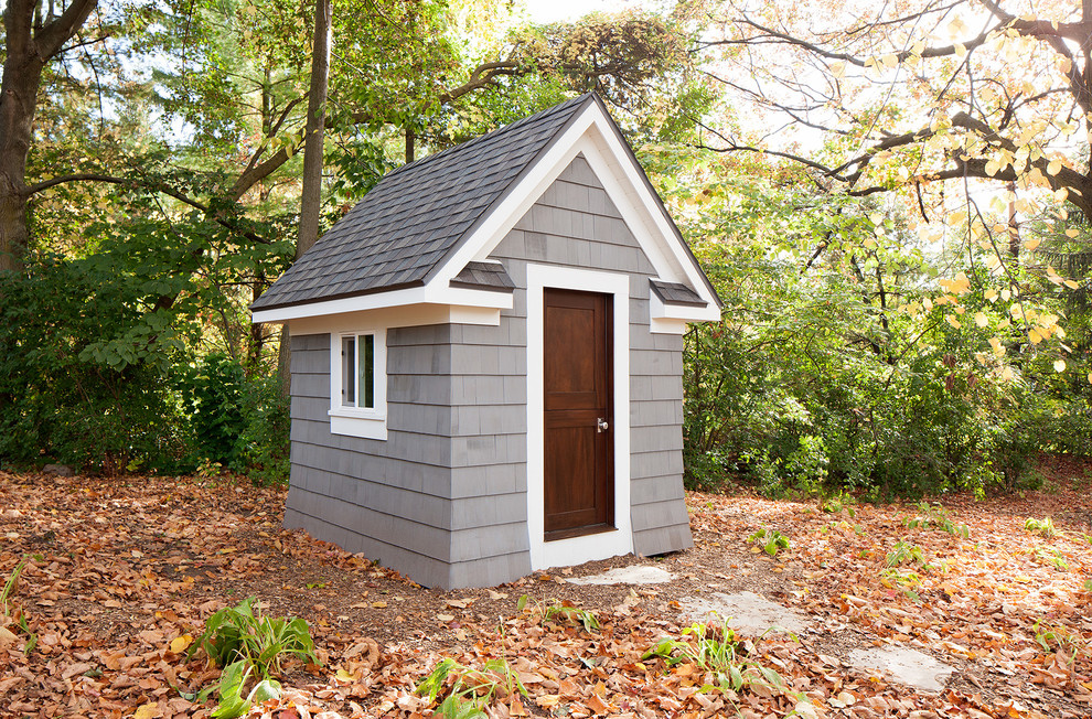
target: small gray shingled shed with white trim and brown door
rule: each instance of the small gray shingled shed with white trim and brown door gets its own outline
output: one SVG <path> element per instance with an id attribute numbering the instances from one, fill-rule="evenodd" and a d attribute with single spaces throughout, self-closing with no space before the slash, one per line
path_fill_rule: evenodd
<path id="1" fill-rule="evenodd" d="M 692 546 L 720 300 L 596 95 L 395 170 L 251 309 L 291 334 L 286 526 L 440 588 Z"/>

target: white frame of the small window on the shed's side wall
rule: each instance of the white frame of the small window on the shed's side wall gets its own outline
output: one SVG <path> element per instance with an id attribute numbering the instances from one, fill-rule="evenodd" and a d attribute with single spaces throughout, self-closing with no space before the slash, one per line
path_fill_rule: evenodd
<path id="1" fill-rule="evenodd" d="M 361 337 L 372 335 L 372 407 L 349 407 L 342 404 L 345 363 L 341 354 L 343 342 L 354 337 L 360 356 Z M 353 358 L 355 364 L 356 357 Z M 358 376 L 358 371 L 357 371 Z M 385 328 L 362 328 L 330 333 L 330 431 L 366 439 L 387 438 L 387 331 Z"/>

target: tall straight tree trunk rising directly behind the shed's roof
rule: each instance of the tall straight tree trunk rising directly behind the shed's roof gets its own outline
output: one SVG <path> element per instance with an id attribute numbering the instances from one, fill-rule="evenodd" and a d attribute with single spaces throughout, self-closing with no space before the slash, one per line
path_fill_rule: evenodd
<path id="1" fill-rule="evenodd" d="M 296 259 L 319 239 L 322 211 L 322 143 L 326 125 L 326 88 L 330 77 L 331 0 L 314 1 L 314 45 L 311 52 L 311 88 L 307 97 L 307 136 L 303 140 L 303 192 L 300 200 L 300 230 L 296 240 Z M 291 391 L 292 357 L 288 324 L 280 335 L 280 386 Z"/>

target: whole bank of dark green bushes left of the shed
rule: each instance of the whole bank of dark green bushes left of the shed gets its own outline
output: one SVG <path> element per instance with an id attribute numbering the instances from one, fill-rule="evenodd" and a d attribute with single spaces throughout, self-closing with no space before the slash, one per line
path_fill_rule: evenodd
<path id="1" fill-rule="evenodd" d="M 0 273 L 0 465 L 183 473 L 204 461 L 287 477 L 277 377 L 196 360 L 186 314 L 149 309 L 139 285 L 101 258 L 43 255 Z"/>

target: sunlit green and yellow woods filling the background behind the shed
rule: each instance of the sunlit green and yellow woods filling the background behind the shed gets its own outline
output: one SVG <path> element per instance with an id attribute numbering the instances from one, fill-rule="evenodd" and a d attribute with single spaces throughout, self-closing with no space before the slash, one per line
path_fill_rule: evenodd
<path id="1" fill-rule="evenodd" d="M 322 79 L 311 3 L 13 0 L 0 461 L 282 476 L 280 337 L 247 305 L 313 236 L 301 204 L 321 234 L 398 164 L 595 89 L 728 308 L 687 335 L 693 483 L 1035 482 L 1092 431 L 1088 12 L 339 0 Z"/>

